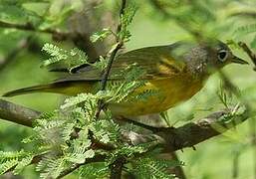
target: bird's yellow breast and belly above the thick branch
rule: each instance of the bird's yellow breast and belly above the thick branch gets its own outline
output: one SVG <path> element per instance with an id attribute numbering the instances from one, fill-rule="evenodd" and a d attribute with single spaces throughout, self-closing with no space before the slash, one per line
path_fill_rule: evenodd
<path id="1" fill-rule="evenodd" d="M 135 116 L 165 111 L 180 101 L 189 99 L 203 86 L 203 81 L 191 77 L 173 77 L 170 79 L 152 80 L 134 95 L 151 89 L 155 94 L 143 99 L 131 100 L 121 103 L 110 103 L 109 107 L 115 115 Z"/>

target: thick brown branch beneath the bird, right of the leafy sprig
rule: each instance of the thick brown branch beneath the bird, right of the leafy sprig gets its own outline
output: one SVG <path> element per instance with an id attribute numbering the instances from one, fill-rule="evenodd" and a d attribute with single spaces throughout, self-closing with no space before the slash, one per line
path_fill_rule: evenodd
<path id="1" fill-rule="evenodd" d="M 198 121 L 189 122 L 177 128 L 158 128 L 158 131 L 151 135 L 124 130 L 122 137 L 124 141 L 132 145 L 153 141 L 160 144 L 165 152 L 172 152 L 193 147 L 209 138 L 220 135 L 249 117 L 249 112 L 246 110 L 242 114 L 234 115 L 232 119 L 225 121 L 223 117 L 226 114 L 228 114 L 228 111 L 217 111 Z M 216 126 L 221 127 L 221 131 L 218 131 Z"/>

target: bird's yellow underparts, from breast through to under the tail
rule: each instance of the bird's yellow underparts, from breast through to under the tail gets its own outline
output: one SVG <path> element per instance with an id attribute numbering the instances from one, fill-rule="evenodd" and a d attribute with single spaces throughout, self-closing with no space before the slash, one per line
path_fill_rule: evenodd
<path id="1" fill-rule="evenodd" d="M 193 77 L 183 74 L 183 76 L 172 76 L 168 79 L 150 80 L 145 86 L 135 89 L 131 96 L 141 93 L 145 90 L 153 90 L 155 93 L 143 99 L 126 100 L 119 103 L 109 103 L 109 107 L 114 115 L 137 116 L 150 113 L 158 113 L 165 111 L 174 106 L 178 102 L 189 99 L 203 86 L 202 80 L 194 79 Z M 54 91 L 75 95 L 80 92 L 95 92 L 99 84 L 95 83 L 75 83 L 70 84 L 66 88 L 58 88 Z M 86 89 L 86 90 L 85 90 Z M 51 88 L 52 91 L 53 88 Z"/>

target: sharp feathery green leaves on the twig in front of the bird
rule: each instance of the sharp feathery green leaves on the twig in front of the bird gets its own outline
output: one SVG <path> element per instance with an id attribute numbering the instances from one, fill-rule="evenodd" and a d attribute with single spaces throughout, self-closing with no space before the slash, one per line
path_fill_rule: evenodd
<path id="1" fill-rule="evenodd" d="M 29 8 L 28 5 L 26 7 Z M 121 29 L 116 35 L 120 41 L 129 40 L 128 25 L 134 13 L 135 8 L 130 7 L 122 15 Z M 104 29 L 103 32 L 93 35 L 92 41 L 103 40 L 110 33 L 109 29 Z M 113 48 L 116 46 L 114 45 Z M 52 44 L 45 44 L 42 50 L 51 56 L 50 59 L 44 61 L 42 67 L 54 68 L 60 65 L 69 71 L 84 64 L 103 71 L 107 67 L 109 58 L 108 56 L 106 59 L 100 57 L 99 62 L 91 64 L 88 62 L 86 53 L 78 49 L 64 50 Z M 109 54 L 112 51 L 113 49 Z M 105 102 L 131 100 L 132 98 L 128 98 L 128 95 L 146 83 L 138 81 L 143 73 L 142 70 L 132 65 L 121 73 L 125 77 L 123 82 L 109 83 L 108 90 L 99 90 L 94 94 L 80 93 L 69 97 L 60 108 L 42 114 L 34 123 L 33 134 L 23 140 L 24 143 L 32 144 L 33 149 L 2 155 L 1 172 L 4 173 L 14 167 L 14 173 L 18 174 L 24 167 L 31 164 L 34 157 L 40 156 L 41 159 L 36 164 L 36 171 L 40 172 L 40 177 L 57 178 L 75 165 L 83 165 L 88 159 L 105 155 L 106 160 L 99 164 L 85 165 L 79 171 L 80 177 L 90 175 L 91 178 L 100 178 L 100 176 L 109 175 L 109 165 L 120 156 L 132 158 L 135 154 L 146 152 L 150 144 L 128 146 L 121 141 L 121 127 L 113 120 L 111 111 L 105 110 L 100 117 L 96 117 L 100 100 Z M 142 91 L 136 97 L 144 98 L 149 93 L 153 92 Z M 95 145 L 104 147 L 99 149 Z M 104 150 L 105 147 L 111 148 L 112 152 Z"/>

